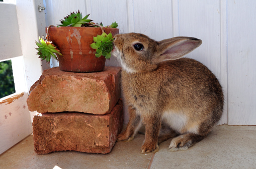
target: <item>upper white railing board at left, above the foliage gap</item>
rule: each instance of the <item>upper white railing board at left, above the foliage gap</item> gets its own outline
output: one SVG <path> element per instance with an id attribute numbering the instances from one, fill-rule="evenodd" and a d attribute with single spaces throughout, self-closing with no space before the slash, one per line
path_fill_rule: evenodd
<path id="1" fill-rule="evenodd" d="M 0 60 L 22 55 L 15 4 L 0 2 Z"/>

